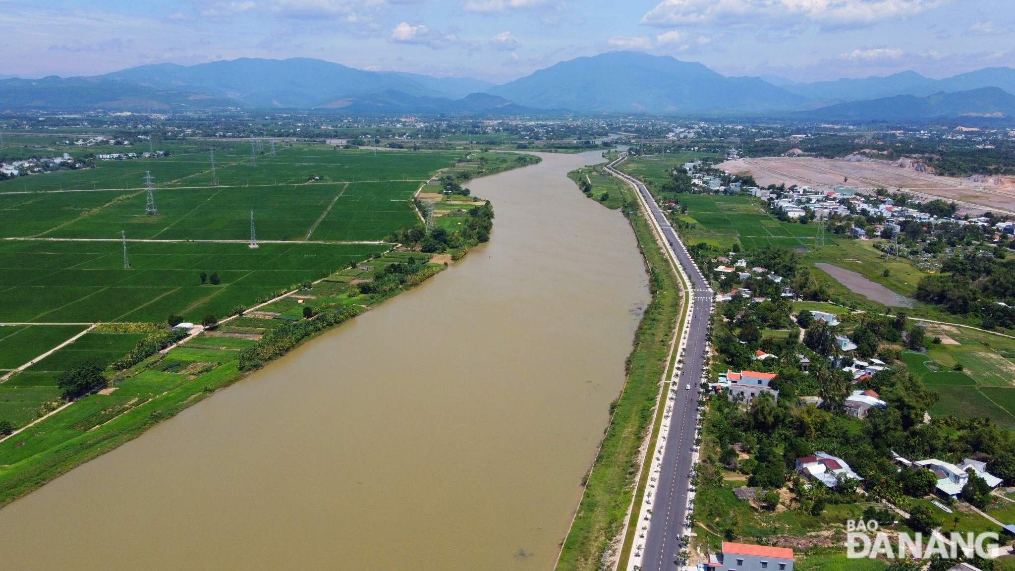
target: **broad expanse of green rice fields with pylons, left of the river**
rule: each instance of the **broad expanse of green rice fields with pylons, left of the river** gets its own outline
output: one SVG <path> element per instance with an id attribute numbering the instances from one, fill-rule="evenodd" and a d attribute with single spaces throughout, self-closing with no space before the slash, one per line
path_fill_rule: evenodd
<path id="1" fill-rule="evenodd" d="M 258 155 L 251 166 L 249 143 L 198 144 L 0 182 L 0 238 L 31 238 L 0 241 L 0 323 L 222 317 L 389 249 L 334 242 L 384 241 L 417 224 L 413 194 L 462 157 L 279 143 L 276 156 Z M 216 186 L 205 144 L 215 146 Z M 145 171 L 157 215 L 145 214 Z M 257 249 L 246 243 L 251 210 Z M 121 233 L 168 242 L 128 242 L 125 268 Z M 202 284 L 201 272 L 220 283 Z M 0 335 L 0 362 L 4 351 Z"/>

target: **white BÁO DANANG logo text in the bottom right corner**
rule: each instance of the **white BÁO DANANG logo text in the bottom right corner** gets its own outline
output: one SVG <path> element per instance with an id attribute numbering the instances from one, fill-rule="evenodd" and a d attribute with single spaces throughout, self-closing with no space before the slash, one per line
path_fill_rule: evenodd
<path id="1" fill-rule="evenodd" d="M 927 540 L 924 533 L 909 534 L 900 531 L 891 543 L 888 533 L 878 530 L 874 519 L 845 520 L 845 556 L 849 559 L 875 559 L 879 555 L 885 559 L 930 559 L 935 555 L 941 559 L 971 558 L 973 554 L 983 559 L 995 559 L 998 553 L 998 534 L 994 531 L 983 533 L 959 533 L 952 531 L 950 537 L 932 531 Z"/>

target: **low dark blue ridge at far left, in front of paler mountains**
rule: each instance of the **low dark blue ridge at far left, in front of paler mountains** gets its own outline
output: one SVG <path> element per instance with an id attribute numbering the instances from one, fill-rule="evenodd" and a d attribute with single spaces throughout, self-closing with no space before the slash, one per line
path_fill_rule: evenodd
<path id="1" fill-rule="evenodd" d="M 168 110 L 222 108 L 234 102 L 180 89 L 158 89 L 95 77 L 0 80 L 0 109 Z"/>

